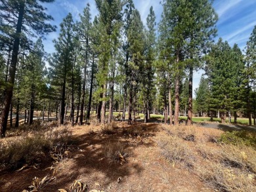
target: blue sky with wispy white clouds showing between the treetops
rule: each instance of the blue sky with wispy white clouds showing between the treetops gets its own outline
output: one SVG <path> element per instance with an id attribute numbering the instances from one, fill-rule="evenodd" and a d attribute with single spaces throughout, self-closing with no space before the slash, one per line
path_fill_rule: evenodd
<path id="1" fill-rule="evenodd" d="M 63 18 L 71 12 L 74 20 L 79 20 L 79 13 L 87 3 L 91 5 L 92 18 L 98 13 L 95 7 L 95 0 L 56 0 L 54 3 L 45 4 L 47 13 L 54 18 L 52 24 L 58 26 Z M 135 8 L 139 10 L 140 16 L 144 24 L 146 24 L 146 16 L 148 16 L 150 7 L 153 6 L 156 13 L 157 22 L 161 19 L 162 6 L 160 0 L 134 0 Z M 256 1 L 255 0 L 215 0 L 213 7 L 219 14 L 217 22 L 218 36 L 224 41 L 228 41 L 230 46 L 237 43 L 241 49 L 244 49 L 246 41 L 249 39 L 251 31 L 256 25 Z M 53 39 L 58 37 L 58 30 L 46 36 L 44 41 L 45 51 L 54 52 Z M 198 87 L 203 71 L 194 73 L 193 88 Z"/>

